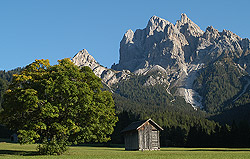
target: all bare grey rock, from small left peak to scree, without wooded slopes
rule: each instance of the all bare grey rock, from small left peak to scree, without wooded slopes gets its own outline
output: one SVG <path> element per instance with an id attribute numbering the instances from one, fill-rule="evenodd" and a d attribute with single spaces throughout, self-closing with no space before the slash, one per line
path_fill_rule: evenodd
<path id="1" fill-rule="evenodd" d="M 249 74 L 249 50 L 249 39 L 228 30 L 219 32 L 212 26 L 202 31 L 182 14 L 176 24 L 153 16 L 146 28 L 128 30 L 120 42 L 119 63 L 112 69 L 99 65 L 86 50 L 72 60 L 78 66 L 89 66 L 109 86 L 129 79 L 131 72 L 147 75 L 144 86 L 167 84 L 168 92 L 175 87 L 175 95 L 184 97 L 194 107 L 203 107 L 203 96 L 193 85 L 199 70 L 222 57 L 230 57 L 240 76 Z"/>

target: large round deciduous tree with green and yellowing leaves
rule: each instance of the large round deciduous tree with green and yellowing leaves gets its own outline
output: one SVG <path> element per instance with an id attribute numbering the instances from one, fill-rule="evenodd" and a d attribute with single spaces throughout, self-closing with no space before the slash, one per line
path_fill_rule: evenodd
<path id="1" fill-rule="evenodd" d="M 36 60 L 14 75 L 1 121 L 18 130 L 21 144 L 40 143 L 42 154 L 62 154 L 71 143 L 106 142 L 118 119 L 112 94 L 101 87 L 89 67 L 70 59 L 54 66 Z"/>

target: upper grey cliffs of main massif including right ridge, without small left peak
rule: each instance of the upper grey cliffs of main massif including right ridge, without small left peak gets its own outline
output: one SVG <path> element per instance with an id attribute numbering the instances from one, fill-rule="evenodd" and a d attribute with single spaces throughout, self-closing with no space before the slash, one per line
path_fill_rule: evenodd
<path id="1" fill-rule="evenodd" d="M 206 62 L 222 53 L 241 57 L 249 40 L 212 26 L 202 31 L 186 14 L 172 24 L 153 16 L 145 29 L 128 30 L 120 43 L 120 60 L 112 68 L 136 72 L 154 65 L 187 71 L 187 65 Z"/>

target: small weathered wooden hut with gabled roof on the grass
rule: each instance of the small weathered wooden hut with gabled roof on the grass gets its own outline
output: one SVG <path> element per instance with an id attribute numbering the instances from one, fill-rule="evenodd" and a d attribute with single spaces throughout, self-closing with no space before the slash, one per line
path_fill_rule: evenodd
<path id="1" fill-rule="evenodd" d="M 160 130 L 152 119 L 131 123 L 121 131 L 125 150 L 160 150 Z"/>

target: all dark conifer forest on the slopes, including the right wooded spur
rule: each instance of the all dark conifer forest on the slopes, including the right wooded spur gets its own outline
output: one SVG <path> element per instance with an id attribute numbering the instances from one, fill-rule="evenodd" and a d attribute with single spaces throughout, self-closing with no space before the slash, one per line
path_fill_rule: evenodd
<path id="1" fill-rule="evenodd" d="M 227 64 L 227 62 L 225 62 L 225 64 Z M 228 65 L 228 69 L 230 69 L 230 67 L 232 66 Z M 217 81 L 224 80 L 224 83 L 221 83 L 225 84 L 223 87 L 227 86 L 227 82 L 225 81 L 230 81 L 229 88 L 231 85 L 237 86 L 237 84 L 239 84 L 238 93 L 241 92 L 240 82 L 242 81 L 240 78 L 234 78 L 239 75 L 237 71 L 231 69 L 232 74 L 228 77 L 229 79 L 221 79 L 218 78 L 218 76 L 219 74 L 223 74 L 225 70 L 221 70 L 221 67 L 216 67 L 216 65 L 211 65 L 209 69 L 214 73 L 211 74 L 206 71 L 201 73 L 198 78 L 200 81 L 204 82 L 205 79 L 210 79 L 210 81 L 208 81 L 211 84 L 215 81 L 214 79 Z M 20 70 L 21 69 L 18 68 L 8 72 L 1 71 L 1 94 L 7 89 L 12 75 L 20 72 Z M 208 75 L 211 77 L 207 78 Z M 119 117 L 119 121 L 112 134 L 111 143 L 124 142 L 120 132 L 131 122 L 152 118 L 164 128 L 161 132 L 162 146 L 250 146 L 249 142 L 247 142 L 248 140 L 246 140 L 250 138 L 250 127 L 248 122 L 246 122 L 250 121 L 248 116 L 248 112 L 250 111 L 249 89 L 235 102 L 227 104 L 227 108 L 233 109 L 221 109 L 223 110 L 221 113 L 209 116 L 210 113 L 208 114 L 203 110 L 194 110 L 182 97 L 169 94 L 166 91 L 167 85 L 143 85 L 148 78 L 149 76 L 134 75 L 131 76 L 129 80 L 123 80 L 112 86 L 116 114 Z M 235 81 L 232 81 L 232 79 Z M 209 82 L 205 82 L 205 84 Z M 209 87 L 208 85 L 207 88 L 210 89 L 213 87 Z M 109 88 L 106 87 L 105 89 Z M 234 87 L 231 89 L 234 89 Z M 171 92 L 174 92 L 174 90 Z M 1 137 L 8 137 L 10 132 L 1 127 L 0 135 Z"/>

